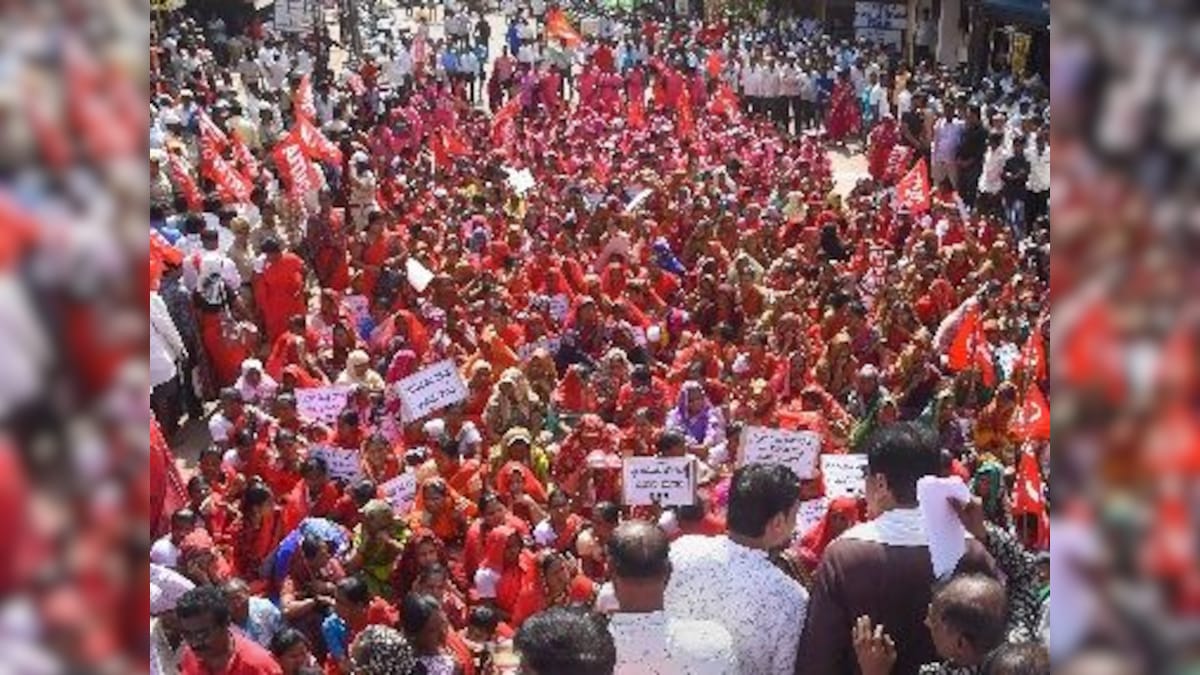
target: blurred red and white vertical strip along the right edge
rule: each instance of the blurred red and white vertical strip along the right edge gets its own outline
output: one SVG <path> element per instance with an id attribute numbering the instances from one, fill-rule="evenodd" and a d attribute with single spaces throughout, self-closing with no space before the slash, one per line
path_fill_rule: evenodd
<path id="1" fill-rule="evenodd" d="M 1051 10 L 1050 623 L 1070 671 L 1200 669 L 1198 8 Z"/>

